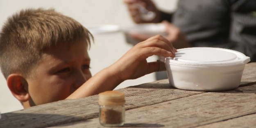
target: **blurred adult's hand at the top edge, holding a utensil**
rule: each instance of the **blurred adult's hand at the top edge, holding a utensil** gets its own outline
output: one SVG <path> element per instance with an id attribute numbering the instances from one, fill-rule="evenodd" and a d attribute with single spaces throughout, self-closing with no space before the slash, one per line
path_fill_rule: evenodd
<path id="1" fill-rule="evenodd" d="M 127 4 L 131 18 L 136 23 L 160 22 L 160 11 L 151 0 L 123 0 Z M 154 15 L 154 18 L 144 18 L 147 13 Z"/>

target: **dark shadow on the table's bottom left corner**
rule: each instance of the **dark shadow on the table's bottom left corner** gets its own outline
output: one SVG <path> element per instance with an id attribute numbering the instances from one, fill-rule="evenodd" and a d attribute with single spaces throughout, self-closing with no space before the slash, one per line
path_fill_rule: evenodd
<path id="1" fill-rule="evenodd" d="M 45 128 L 70 123 L 72 121 L 84 120 L 82 117 L 72 115 L 32 114 L 20 113 L 20 111 L 18 112 L 2 113 L 0 119 L 0 128 Z"/>

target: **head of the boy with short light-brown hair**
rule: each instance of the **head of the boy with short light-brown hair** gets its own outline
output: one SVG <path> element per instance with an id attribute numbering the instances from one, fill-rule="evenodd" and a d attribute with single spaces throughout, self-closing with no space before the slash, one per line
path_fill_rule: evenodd
<path id="1" fill-rule="evenodd" d="M 68 97 L 91 77 L 90 38 L 79 22 L 53 9 L 8 18 L 0 33 L 0 66 L 14 97 L 24 108 Z"/>

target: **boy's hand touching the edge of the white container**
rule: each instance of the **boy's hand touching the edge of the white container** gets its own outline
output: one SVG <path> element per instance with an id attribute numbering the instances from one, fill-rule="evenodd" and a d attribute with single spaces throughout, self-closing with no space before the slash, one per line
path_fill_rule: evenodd
<path id="1" fill-rule="evenodd" d="M 132 47 L 111 68 L 116 69 L 120 80 L 137 79 L 146 74 L 159 71 L 159 62 L 147 63 L 149 56 L 174 57 L 177 50 L 172 43 L 161 35 L 153 36 Z"/>

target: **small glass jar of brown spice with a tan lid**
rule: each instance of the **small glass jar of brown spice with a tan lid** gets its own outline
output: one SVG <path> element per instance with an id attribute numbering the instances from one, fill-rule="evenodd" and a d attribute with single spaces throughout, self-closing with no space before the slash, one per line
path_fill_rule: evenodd
<path id="1" fill-rule="evenodd" d="M 106 91 L 99 94 L 99 121 L 102 126 L 116 127 L 125 124 L 125 94 Z"/>

